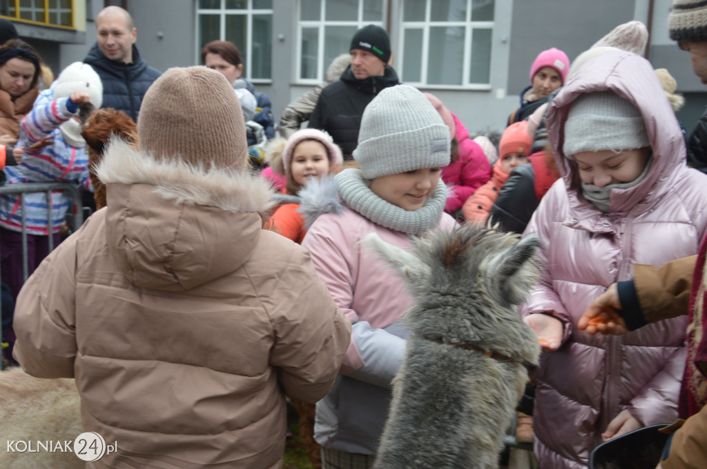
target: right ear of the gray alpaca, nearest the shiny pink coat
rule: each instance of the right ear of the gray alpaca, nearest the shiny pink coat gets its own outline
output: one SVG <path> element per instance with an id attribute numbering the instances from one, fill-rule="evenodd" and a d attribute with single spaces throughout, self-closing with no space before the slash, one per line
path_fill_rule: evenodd
<path id="1" fill-rule="evenodd" d="M 491 278 L 496 283 L 496 291 L 509 304 L 520 304 L 539 278 L 537 249 L 540 240 L 534 233 L 528 235 L 513 247 L 498 254 L 491 268 Z"/>

